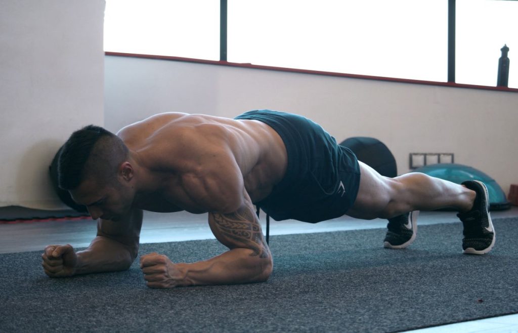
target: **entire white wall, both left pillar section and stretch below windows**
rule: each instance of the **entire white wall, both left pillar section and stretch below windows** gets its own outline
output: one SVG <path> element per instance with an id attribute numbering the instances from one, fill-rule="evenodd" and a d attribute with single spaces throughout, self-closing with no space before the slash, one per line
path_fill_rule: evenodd
<path id="1" fill-rule="evenodd" d="M 72 131 L 90 123 L 117 131 L 164 111 L 290 111 L 338 141 L 380 139 L 399 173 L 410 152 L 453 152 L 506 192 L 518 183 L 516 93 L 104 57 L 104 5 L 0 0 L 0 206 L 63 207 L 48 165 Z"/>

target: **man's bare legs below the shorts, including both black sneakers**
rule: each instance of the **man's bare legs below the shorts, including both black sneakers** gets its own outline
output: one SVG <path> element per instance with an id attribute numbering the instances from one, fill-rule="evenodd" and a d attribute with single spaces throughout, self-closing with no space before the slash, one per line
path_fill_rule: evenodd
<path id="1" fill-rule="evenodd" d="M 484 254 L 493 248 L 494 229 L 483 183 L 465 182 L 468 188 L 418 172 L 387 178 L 368 165 L 359 164 L 358 196 L 347 215 L 389 219 L 385 247 L 399 249 L 410 245 L 416 233 L 415 211 L 451 207 L 459 212 L 457 216 L 464 224 L 464 253 Z"/>

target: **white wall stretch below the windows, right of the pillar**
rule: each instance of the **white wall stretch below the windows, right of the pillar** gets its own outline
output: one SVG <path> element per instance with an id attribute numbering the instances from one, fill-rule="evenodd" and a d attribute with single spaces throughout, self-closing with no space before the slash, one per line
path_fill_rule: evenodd
<path id="1" fill-rule="evenodd" d="M 518 93 L 107 56 L 111 131 L 166 111 L 235 117 L 251 109 L 305 115 L 338 142 L 371 136 L 409 171 L 411 152 L 452 152 L 508 193 L 518 183 Z"/>

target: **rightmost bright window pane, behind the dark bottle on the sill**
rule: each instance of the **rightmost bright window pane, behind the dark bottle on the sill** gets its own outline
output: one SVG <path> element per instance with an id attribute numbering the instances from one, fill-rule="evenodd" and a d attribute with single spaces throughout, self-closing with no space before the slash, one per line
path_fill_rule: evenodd
<path id="1" fill-rule="evenodd" d="M 500 49 L 509 47 L 509 87 L 518 88 L 518 2 L 456 1 L 455 81 L 497 83 Z"/>

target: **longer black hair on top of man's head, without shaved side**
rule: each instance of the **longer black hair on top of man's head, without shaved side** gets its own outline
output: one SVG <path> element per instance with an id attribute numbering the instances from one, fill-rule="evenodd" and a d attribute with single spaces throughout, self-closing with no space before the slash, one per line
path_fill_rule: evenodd
<path id="1" fill-rule="evenodd" d="M 100 126 L 88 125 L 70 135 L 70 138 L 60 149 L 57 164 L 57 179 L 62 189 L 74 190 L 81 184 L 81 181 L 85 178 L 85 166 L 92 152 L 99 149 L 107 150 L 98 147 L 99 142 L 105 141 L 104 139 L 109 139 L 107 141 L 110 143 L 116 143 L 115 146 L 118 146 L 118 150 L 122 149 L 123 154 L 127 154 L 124 142 L 118 136 Z M 102 146 L 106 145 L 103 144 Z M 113 144 L 109 144 L 109 146 L 113 146 Z M 109 150 L 112 151 L 112 149 Z M 112 152 L 100 154 L 109 155 L 110 153 L 113 155 Z M 106 164 L 106 161 L 99 162 Z"/>

